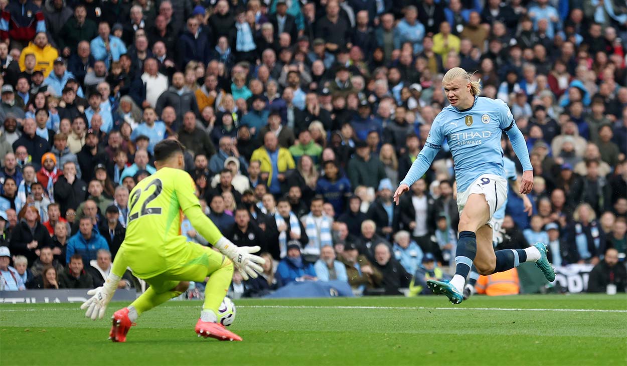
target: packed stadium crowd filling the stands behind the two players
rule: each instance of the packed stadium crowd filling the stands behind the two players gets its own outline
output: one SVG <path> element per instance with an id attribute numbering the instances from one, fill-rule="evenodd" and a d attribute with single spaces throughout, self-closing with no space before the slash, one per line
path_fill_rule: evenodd
<path id="1" fill-rule="evenodd" d="M 555 266 L 596 265 L 591 290 L 624 291 L 624 1 L 0 0 L 0 10 L 4 290 L 102 284 L 129 191 L 155 172 L 154 145 L 177 139 L 206 214 L 271 259 L 256 280 L 236 273 L 234 292 L 340 280 L 428 293 L 455 256 L 446 145 L 399 206 L 392 194 L 447 105 L 443 73 L 461 66 L 483 96 L 508 103 L 534 167 L 533 215 L 510 192 L 498 248 L 544 241 Z M 189 221 L 181 231 L 207 244 Z M 120 282 L 134 286 L 130 273 Z"/>

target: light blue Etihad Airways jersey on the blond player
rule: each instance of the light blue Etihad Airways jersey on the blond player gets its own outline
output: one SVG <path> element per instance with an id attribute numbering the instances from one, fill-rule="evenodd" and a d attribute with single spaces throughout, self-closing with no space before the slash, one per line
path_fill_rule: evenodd
<path id="1" fill-rule="evenodd" d="M 523 170 L 532 170 L 525 139 L 507 104 L 500 99 L 475 97 L 475 104 L 466 110 L 448 106 L 438 113 L 423 150 L 401 184 L 411 186 L 424 175 L 445 139 L 455 162 L 458 192 L 466 191 L 482 174 L 505 177 L 502 131 L 512 142 Z"/>

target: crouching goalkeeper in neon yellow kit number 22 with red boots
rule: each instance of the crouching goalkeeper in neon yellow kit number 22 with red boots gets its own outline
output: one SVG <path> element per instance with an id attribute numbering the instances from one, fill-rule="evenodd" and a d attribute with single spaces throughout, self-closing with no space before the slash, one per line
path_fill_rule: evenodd
<path id="1" fill-rule="evenodd" d="M 231 283 L 233 266 L 248 280 L 249 276 L 256 278 L 263 271 L 260 265 L 265 261 L 251 254 L 259 251 L 258 246 L 238 248 L 204 215 L 194 196 L 194 180 L 183 170 L 183 149 L 176 140 L 163 140 L 155 145 L 157 172 L 130 192 L 126 238 L 115 256 L 113 268 L 105 284 L 90 290 L 88 295 L 93 297 L 81 306 L 87 309 L 88 318 L 102 318 L 127 266 L 135 276 L 149 283 L 148 290 L 137 300 L 113 314 L 109 333 L 113 342 L 125 342 L 130 327 L 144 311 L 181 295 L 187 290 L 188 281 L 203 282 L 207 276 L 196 333 L 199 337 L 241 340 L 217 323 L 216 314 Z M 182 214 L 221 253 L 187 243 L 179 229 Z"/>

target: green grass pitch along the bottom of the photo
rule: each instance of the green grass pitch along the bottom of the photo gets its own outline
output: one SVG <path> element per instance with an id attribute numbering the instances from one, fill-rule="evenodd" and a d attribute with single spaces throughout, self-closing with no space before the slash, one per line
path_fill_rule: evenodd
<path id="1" fill-rule="evenodd" d="M 196 337 L 200 305 L 145 313 L 126 343 L 108 341 L 109 320 L 78 304 L 0 305 L 0 364 L 627 364 L 624 294 L 237 300 L 230 329 L 243 342 Z"/>

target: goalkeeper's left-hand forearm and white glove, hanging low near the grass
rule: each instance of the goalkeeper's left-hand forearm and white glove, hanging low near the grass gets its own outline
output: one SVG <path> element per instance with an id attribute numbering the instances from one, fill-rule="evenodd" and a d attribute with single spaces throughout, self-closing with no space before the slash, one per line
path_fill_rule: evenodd
<path id="1" fill-rule="evenodd" d="M 113 261 L 112 269 L 105 283 L 98 288 L 87 291 L 87 295 L 92 295 L 92 297 L 80 306 L 82 310 L 87 309 L 85 311 L 87 318 L 102 319 L 124 271 L 126 271 L 126 261 L 124 260 L 124 247 L 122 247 L 115 256 L 115 261 Z"/>

